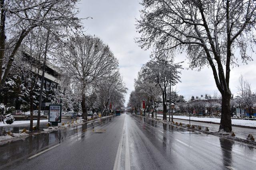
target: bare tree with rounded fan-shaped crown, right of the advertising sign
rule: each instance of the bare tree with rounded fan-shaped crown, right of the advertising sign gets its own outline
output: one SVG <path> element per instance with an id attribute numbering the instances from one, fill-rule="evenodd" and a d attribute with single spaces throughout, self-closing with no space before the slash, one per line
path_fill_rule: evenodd
<path id="1" fill-rule="evenodd" d="M 100 38 L 71 37 L 58 49 L 61 68 L 81 89 L 82 117 L 87 120 L 86 89 L 92 82 L 106 80 L 118 68 L 118 61 Z"/>

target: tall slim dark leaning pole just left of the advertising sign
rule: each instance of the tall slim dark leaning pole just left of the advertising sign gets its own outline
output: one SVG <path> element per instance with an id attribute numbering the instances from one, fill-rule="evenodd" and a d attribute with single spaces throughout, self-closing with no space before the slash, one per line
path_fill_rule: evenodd
<path id="1" fill-rule="evenodd" d="M 40 96 L 39 96 L 39 104 L 38 104 L 39 106 L 38 106 L 38 115 L 37 115 L 37 123 L 36 123 L 36 127 L 38 130 L 40 129 L 40 115 L 41 115 L 41 105 L 42 105 L 42 94 L 43 94 L 43 90 L 44 90 L 44 72 L 45 72 L 45 66 L 46 66 L 46 56 L 47 56 L 46 54 L 47 54 L 47 49 L 48 49 L 48 39 L 49 39 L 49 30 L 48 30 L 47 37 L 46 37 L 44 63 L 43 63 L 43 69 L 42 69 Z"/>

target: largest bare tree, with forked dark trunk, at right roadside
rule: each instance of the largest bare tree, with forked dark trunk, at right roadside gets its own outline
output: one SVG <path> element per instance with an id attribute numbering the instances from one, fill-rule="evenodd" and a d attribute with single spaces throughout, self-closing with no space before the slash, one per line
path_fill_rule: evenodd
<path id="1" fill-rule="evenodd" d="M 155 46 L 156 53 L 186 51 L 190 68 L 208 65 L 222 95 L 219 130 L 232 131 L 229 88 L 230 65 L 239 49 L 242 61 L 255 42 L 256 3 L 253 0 L 142 0 L 138 39 L 142 48 Z"/>

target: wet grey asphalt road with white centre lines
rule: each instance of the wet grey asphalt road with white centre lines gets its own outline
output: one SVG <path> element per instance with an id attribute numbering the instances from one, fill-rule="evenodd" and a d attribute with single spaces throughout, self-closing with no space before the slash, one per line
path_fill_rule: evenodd
<path id="1" fill-rule="evenodd" d="M 0 146 L 0 169 L 255 169 L 256 148 L 126 115 Z"/>

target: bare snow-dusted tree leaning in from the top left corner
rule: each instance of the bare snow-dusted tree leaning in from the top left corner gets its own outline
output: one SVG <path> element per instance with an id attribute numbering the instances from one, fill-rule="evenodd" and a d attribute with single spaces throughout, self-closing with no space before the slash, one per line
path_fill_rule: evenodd
<path id="1" fill-rule="evenodd" d="M 0 1 L 0 88 L 22 41 L 34 28 L 80 27 L 76 4 L 77 0 Z"/>

